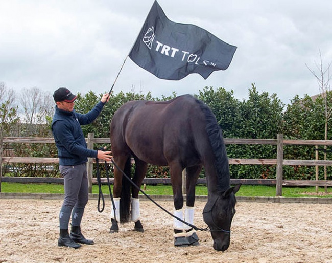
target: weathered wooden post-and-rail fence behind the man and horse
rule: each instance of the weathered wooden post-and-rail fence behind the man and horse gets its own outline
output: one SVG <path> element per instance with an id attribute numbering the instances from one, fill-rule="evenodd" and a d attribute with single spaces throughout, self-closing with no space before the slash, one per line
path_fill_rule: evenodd
<path id="1" fill-rule="evenodd" d="M 332 161 L 324 160 L 284 160 L 284 145 L 327 145 L 332 146 L 332 140 L 284 140 L 282 134 L 277 135 L 277 139 L 224 139 L 225 144 L 247 144 L 247 145 L 276 145 L 276 159 L 229 159 L 229 164 L 236 165 L 276 165 L 276 179 L 231 179 L 231 184 L 250 184 L 250 185 L 276 185 L 276 196 L 282 196 L 282 186 L 332 186 L 332 181 L 328 180 L 283 180 L 284 165 L 302 166 L 332 166 Z M 89 149 L 93 149 L 93 144 L 108 144 L 109 138 L 94 138 L 93 133 L 89 133 L 86 139 Z M 3 156 L 4 143 L 55 143 L 53 138 L 32 138 L 32 137 L 2 137 L 0 134 L 0 192 L 1 182 L 38 182 L 38 183 L 63 183 L 62 178 L 28 178 L 28 177 L 2 177 L 3 163 L 59 163 L 58 158 L 32 158 L 32 157 L 6 157 Z M 92 184 L 96 179 L 92 178 L 93 158 L 88 158 L 87 171 L 89 179 L 89 192 L 92 192 Z M 106 179 L 104 179 L 106 180 Z M 170 179 L 146 178 L 146 184 L 170 184 Z M 205 184 L 205 179 L 199 179 L 199 184 Z"/>

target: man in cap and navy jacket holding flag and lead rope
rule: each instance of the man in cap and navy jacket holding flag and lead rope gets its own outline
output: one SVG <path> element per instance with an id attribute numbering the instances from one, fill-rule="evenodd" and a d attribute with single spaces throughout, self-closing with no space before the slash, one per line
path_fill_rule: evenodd
<path id="1" fill-rule="evenodd" d="M 87 114 L 75 112 L 74 104 L 77 96 L 65 87 L 57 89 L 53 98 L 56 106 L 52 133 L 58 148 L 59 168 L 64 182 L 64 201 L 59 215 L 58 246 L 77 249 L 81 247 L 79 243 L 93 244 L 93 240 L 86 239 L 81 232 L 81 220 L 89 197 L 87 158 L 110 161 L 112 157 L 110 151 L 87 149 L 81 125 L 89 124 L 98 117 L 109 100 L 109 94 L 103 95 L 101 101 Z M 72 228 L 69 234 L 70 215 L 72 216 Z"/>

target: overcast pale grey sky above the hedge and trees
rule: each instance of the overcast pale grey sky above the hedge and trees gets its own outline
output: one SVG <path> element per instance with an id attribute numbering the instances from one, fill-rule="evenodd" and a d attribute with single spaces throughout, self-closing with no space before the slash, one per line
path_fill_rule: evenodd
<path id="1" fill-rule="evenodd" d="M 128 58 L 114 93 L 198 94 L 205 86 L 247 99 L 251 83 L 286 104 L 319 93 L 306 68 L 332 61 L 332 1 L 159 0 L 174 22 L 193 24 L 238 47 L 226 71 L 158 79 Z M 153 0 L 0 0 L 0 82 L 20 91 L 108 92 Z"/>

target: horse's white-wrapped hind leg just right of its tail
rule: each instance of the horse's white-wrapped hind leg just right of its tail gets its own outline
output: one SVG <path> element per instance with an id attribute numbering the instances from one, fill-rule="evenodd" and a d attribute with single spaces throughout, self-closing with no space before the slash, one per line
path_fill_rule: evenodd
<path id="1" fill-rule="evenodd" d="M 147 173 L 148 164 L 135 158 L 135 175 L 132 181 L 139 188 L 144 180 Z M 136 187 L 131 188 L 131 221 L 135 223 L 134 230 L 137 232 L 144 232 L 143 225 L 140 223 L 140 209 L 139 209 L 139 190 Z"/>

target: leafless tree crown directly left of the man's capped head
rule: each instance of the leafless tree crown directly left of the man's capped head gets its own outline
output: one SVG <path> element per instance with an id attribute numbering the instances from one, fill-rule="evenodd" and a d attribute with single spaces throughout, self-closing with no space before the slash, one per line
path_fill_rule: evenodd
<path id="1" fill-rule="evenodd" d="M 45 124 L 46 117 L 53 111 L 54 103 L 51 94 L 37 87 L 23 89 L 19 101 L 23 108 L 24 120 L 29 124 Z"/>

